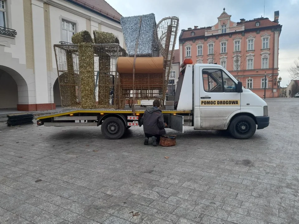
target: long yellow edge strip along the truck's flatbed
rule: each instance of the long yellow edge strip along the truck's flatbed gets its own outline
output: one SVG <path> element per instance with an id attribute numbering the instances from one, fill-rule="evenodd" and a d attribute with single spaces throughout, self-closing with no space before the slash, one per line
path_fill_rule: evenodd
<path id="1" fill-rule="evenodd" d="M 145 110 L 136 110 L 135 114 L 143 114 Z M 41 116 L 36 118 L 37 120 L 46 119 L 46 118 L 52 118 L 52 117 L 59 117 L 69 114 L 76 114 L 76 113 L 104 113 L 104 114 L 132 114 L 133 112 L 131 110 L 74 110 L 74 111 L 68 111 L 64 113 L 57 113 L 57 114 L 50 114 L 47 116 Z M 162 110 L 163 114 L 189 114 L 191 113 L 191 110 Z"/>

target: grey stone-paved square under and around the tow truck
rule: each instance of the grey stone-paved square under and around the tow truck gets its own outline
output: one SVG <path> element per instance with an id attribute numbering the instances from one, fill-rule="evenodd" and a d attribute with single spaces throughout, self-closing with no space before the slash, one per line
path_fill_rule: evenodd
<path id="1" fill-rule="evenodd" d="M 165 148 L 0 123 L 0 223 L 299 223 L 299 99 L 267 102 L 251 139 L 187 128 Z"/>

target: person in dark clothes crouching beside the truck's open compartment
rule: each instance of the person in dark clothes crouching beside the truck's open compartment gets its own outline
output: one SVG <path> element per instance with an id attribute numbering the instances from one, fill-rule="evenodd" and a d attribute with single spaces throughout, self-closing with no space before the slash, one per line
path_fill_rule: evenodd
<path id="1" fill-rule="evenodd" d="M 160 135 L 165 135 L 165 127 L 162 111 L 159 110 L 161 106 L 160 100 L 154 100 L 153 107 L 147 109 L 140 119 L 140 125 L 143 125 L 145 134 L 144 144 L 149 144 L 149 138 L 153 140 L 153 146 L 157 146 L 160 142 Z"/>

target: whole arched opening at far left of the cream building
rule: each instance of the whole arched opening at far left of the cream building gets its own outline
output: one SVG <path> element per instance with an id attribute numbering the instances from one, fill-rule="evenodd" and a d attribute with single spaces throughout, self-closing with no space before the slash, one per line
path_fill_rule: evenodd
<path id="1" fill-rule="evenodd" d="M 0 109 L 17 110 L 18 105 L 28 101 L 25 79 L 12 68 L 0 65 Z"/>

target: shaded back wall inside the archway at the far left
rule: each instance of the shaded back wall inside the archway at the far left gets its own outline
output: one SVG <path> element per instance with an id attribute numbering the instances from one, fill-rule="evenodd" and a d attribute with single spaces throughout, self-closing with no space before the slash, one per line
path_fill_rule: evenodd
<path id="1" fill-rule="evenodd" d="M 15 80 L 0 70 L 0 108 L 17 108 L 18 87 Z"/>

